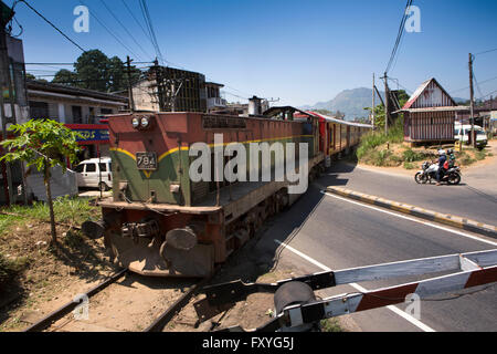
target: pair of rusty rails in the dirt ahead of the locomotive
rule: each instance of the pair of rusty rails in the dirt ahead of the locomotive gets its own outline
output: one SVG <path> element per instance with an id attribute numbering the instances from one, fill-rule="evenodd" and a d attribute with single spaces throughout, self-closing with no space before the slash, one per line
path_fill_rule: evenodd
<path id="1" fill-rule="evenodd" d="M 181 296 L 177 298 L 170 306 L 168 306 L 163 312 L 155 317 L 155 320 L 142 331 L 142 332 L 162 332 L 167 324 L 178 314 L 190 301 L 190 299 L 195 295 L 199 290 L 201 290 L 209 281 L 214 277 L 218 270 L 210 277 L 204 278 L 195 283 L 193 283 Z M 128 270 L 119 270 L 104 282 L 91 289 L 85 294 L 80 294 L 80 298 L 87 298 L 88 300 L 101 293 L 103 290 L 109 288 L 109 285 L 116 283 L 119 279 L 128 273 Z M 171 279 L 163 279 L 165 282 L 170 282 Z M 173 288 L 171 288 L 173 289 Z M 83 295 L 83 296 L 82 296 Z M 70 301 L 60 309 L 53 311 L 45 317 L 41 319 L 36 323 L 30 325 L 24 332 L 72 332 L 66 331 L 65 327 L 75 319 L 71 315 L 71 312 L 80 305 L 81 302 Z M 64 317 L 66 317 L 64 320 Z M 97 327 L 97 326 L 95 326 Z"/>

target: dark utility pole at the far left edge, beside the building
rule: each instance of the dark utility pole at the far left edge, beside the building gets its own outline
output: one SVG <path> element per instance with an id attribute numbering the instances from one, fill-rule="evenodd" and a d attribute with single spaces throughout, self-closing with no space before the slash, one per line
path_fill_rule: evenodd
<path id="1" fill-rule="evenodd" d="M 3 2 L 0 1 L 0 6 L 3 8 Z M 13 15 L 13 12 L 11 12 Z M 3 13 L 2 13 L 3 14 Z M 0 18 L 0 114 L 2 118 L 2 139 L 7 140 L 7 124 L 10 123 L 7 119 L 6 115 L 6 106 L 3 101 L 3 92 L 4 92 L 4 84 L 9 86 L 9 101 L 11 103 L 11 115 L 14 116 L 15 112 L 15 105 L 13 104 L 13 95 L 12 95 L 12 86 L 11 86 L 11 79 L 10 79 L 10 70 L 9 70 L 9 52 L 7 49 L 7 31 L 6 25 L 9 22 L 9 18 Z M 1 80 L 1 77 L 4 77 Z M 12 119 L 12 118 L 11 118 Z M 11 164 L 6 162 L 6 175 L 7 175 L 7 186 L 8 186 L 8 197 L 9 198 L 9 205 L 13 202 L 13 186 L 12 186 L 12 170 L 11 170 Z"/>

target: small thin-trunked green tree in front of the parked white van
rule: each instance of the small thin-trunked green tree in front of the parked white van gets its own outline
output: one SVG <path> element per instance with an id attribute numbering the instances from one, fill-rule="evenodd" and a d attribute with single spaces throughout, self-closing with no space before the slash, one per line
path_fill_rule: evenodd
<path id="1" fill-rule="evenodd" d="M 57 235 L 50 187 L 51 167 L 60 166 L 65 173 L 66 158 L 71 163 L 76 160 L 76 154 L 80 152 L 76 138 L 82 136 L 66 128 L 62 123 L 50 119 L 31 119 L 24 124 L 11 125 L 9 131 L 15 137 L 0 143 L 7 152 L 0 162 L 24 162 L 28 166 L 33 166 L 43 173 L 52 225 L 52 244 L 56 244 Z"/>

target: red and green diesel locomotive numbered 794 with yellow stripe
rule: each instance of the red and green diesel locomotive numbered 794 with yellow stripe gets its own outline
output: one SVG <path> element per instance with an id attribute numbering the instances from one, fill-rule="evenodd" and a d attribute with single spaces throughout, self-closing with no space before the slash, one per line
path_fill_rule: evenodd
<path id="1" fill-rule="evenodd" d="M 104 237 L 112 257 L 131 271 L 210 274 L 267 216 L 296 197 L 288 194 L 288 181 L 193 183 L 190 148 L 199 142 L 214 148 L 214 134 L 222 134 L 224 146 L 279 142 L 285 147 L 295 143 L 298 150 L 306 143 L 309 173 L 324 169 L 318 117 L 304 113 L 294 118 L 293 110 L 282 113 L 248 118 L 200 113 L 109 116 L 113 197 L 98 202 L 103 220 L 84 223 L 84 232 Z M 273 169 L 276 163 L 274 157 Z M 247 168 L 253 165 L 248 162 Z"/>

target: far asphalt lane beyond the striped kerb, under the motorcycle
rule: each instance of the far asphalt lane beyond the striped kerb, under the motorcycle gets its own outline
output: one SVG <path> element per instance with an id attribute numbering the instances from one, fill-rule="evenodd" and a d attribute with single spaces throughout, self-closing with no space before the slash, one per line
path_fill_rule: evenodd
<path id="1" fill-rule="evenodd" d="M 417 185 L 413 177 L 388 175 L 336 164 L 319 183 L 406 202 L 438 212 L 497 225 L 497 166 L 472 174 L 459 186 Z M 478 177 L 478 183 L 476 178 Z"/>

